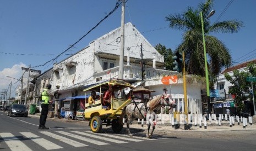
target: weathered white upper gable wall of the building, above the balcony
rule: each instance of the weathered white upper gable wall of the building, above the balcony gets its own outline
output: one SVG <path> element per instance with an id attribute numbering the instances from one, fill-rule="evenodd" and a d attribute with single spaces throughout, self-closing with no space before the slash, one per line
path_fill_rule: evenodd
<path id="1" fill-rule="evenodd" d="M 120 28 L 108 32 L 104 36 L 95 40 L 95 53 L 111 53 L 119 55 L 120 53 Z M 140 59 L 140 44 L 143 44 L 143 58 L 153 59 L 156 56 L 156 61 L 164 62 L 164 56 L 160 55 L 154 47 L 146 40 L 143 35 L 128 22 L 124 25 L 124 56 L 129 56 Z M 117 62 L 119 66 L 119 61 Z"/>

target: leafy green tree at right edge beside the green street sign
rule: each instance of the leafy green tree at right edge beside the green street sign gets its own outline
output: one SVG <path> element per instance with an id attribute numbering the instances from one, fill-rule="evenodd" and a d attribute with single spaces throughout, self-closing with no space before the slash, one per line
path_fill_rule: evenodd
<path id="1" fill-rule="evenodd" d="M 253 72 L 248 72 L 253 71 Z M 233 71 L 233 76 L 225 73 L 225 78 L 233 86 L 229 89 L 229 94 L 236 95 L 237 113 L 241 113 L 244 110 L 244 100 L 252 98 L 252 93 L 250 93 L 251 83 L 246 81 L 247 77 L 256 76 L 256 67 L 254 63 L 249 63 L 245 71 L 239 72 L 238 70 Z M 253 88 L 255 94 L 255 86 Z M 248 96 L 249 94 L 249 96 Z M 253 113 L 254 114 L 254 113 Z"/>

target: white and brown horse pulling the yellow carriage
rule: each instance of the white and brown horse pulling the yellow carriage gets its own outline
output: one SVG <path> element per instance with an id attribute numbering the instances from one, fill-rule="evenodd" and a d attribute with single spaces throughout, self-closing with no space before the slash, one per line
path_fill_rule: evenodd
<path id="1" fill-rule="evenodd" d="M 175 101 L 172 101 L 168 95 L 158 95 L 152 100 L 149 100 L 148 102 L 141 102 L 139 104 L 136 104 L 136 102 L 132 102 L 128 104 L 126 107 L 123 108 L 121 119 L 124 118 L 124 116 L 127 116 L 127 132 L 128 135 L 132 137 L 132 134 L 130 133 L 130 123 L 138 118 L 138 119 L 145 119 L 148 123 L 148 132 L 146 133 L 146 138 L 151 138 L 152 133 L 155 130 L 156 125 L 156 112 L 159 112 L 162 106 L 170 106 L 171 108 L 176 108 L 177 104 Z M 150 130 L 150 126 L 152 125 L 152 130 Z"/>

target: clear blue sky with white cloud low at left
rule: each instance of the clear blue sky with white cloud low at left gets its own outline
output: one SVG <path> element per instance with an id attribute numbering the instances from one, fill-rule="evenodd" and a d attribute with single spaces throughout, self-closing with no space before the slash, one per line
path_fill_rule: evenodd
<path id="1" fill-rule="evenodd" d="M 153 46 L 160 43 L 175 50 L 181 43 L 183 32 L 169 28 L 165 16 L 183 13 L 188 7 L 197 8 L 200 2 L 205 0 L 128 0 L 125 22 L 132 22 Z M 232 3 L 220 17 L 230 2 Z M 0 91 L 8 89 L 10 80 L 13 83 L 17 81 L 6 75 L 19 79 L 22 74 L 21 66 L 39 66 L 55 58 L 103 19 L 115 4 L 115 0 L 0 0 Z M 254 0 L 214 2 L 213 9 L 216 11 L 210 18 L 211 23 L 219 17 L 219 21 L 236 19 L 244 22 L 244 27 L 238 33 L 214 34 L 230 49 L 236 63 L 256 58 L 256 48 L 253 45 L 256 42 L 255 6 Z M 80 40 L 75 48 L 61 55 L 57 62 L 119 26 L 121 7 Z M 39 56 L 41 54 L 47 56 Z M 53 63 L 34 69 L 44 72 Z M 16 86 L 13 85 L 14 88 Z"/>

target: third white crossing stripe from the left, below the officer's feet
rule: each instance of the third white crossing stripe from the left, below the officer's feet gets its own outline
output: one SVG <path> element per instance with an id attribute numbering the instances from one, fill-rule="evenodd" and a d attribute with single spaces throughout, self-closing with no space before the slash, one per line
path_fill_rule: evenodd
<path id="1" fill-rule="evenodd" d="M 55 133 L 52 133 L 52 132 L 48 132 L 48 131 L 41 131 L 41 133 L 43 133 L 44 135 L 47 135 L 47 136 L 50 136 L 52 138 L 55 138 L 57 139 L 58 141 L 62 141 L 64 143 L 67 143 L 67 144 L 70 144 L 74 147 L 84 147 L 84 146 L 88 146 L 86 144 L 83 144 L 83 143 L 79 143 L 77 141 L 74 141 L 74 140 L 71 140 L 67 137 L 63 137 L 63 136 L 59 136 L 59 135 L 56 135 Z"/>

